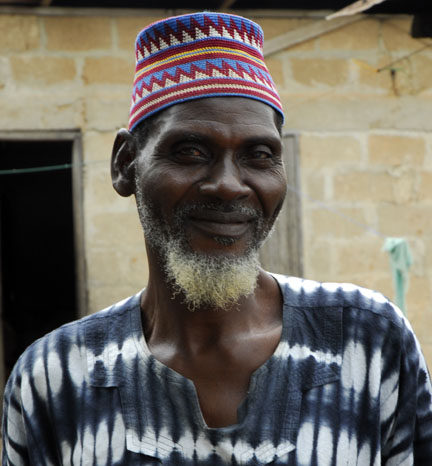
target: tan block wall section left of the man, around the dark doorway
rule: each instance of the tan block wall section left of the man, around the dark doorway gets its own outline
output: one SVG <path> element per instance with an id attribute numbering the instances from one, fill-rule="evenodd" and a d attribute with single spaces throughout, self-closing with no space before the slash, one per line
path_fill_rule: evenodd
<path id="1" fill-rule="evenodd" d="M 109 161 L 127 126 L 135 36 L 156 19 L 0 13 L 0 129 L 82 132 L 89 312 L 147 281 L 134 201 L 114 192 Z"/>

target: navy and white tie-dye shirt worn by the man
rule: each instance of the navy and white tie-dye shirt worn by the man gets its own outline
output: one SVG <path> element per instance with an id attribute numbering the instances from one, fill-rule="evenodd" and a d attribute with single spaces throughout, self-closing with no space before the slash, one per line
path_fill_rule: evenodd
<path id="1" fill-rule="evenodd" d="M 5 465 L 432 465 L 432 388 L 381 294 L 275 276 L 276 351 L 238 423 L 209 428 L 193 383 L 143 337 L 140 294 L 30 346 L 9 379 Z"/>

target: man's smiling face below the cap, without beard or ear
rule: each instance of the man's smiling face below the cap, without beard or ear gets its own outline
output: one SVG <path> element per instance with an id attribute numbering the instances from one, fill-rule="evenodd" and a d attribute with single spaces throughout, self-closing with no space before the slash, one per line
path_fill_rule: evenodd
<path id="1" fill-rule="evenodd" d="M 275 113 L 246 98 L 174 105 L 153 121 L 136 173 L 137 202 L 158 222 L 158 242 L 182 238 L 192 252 L 241 256 L 265 239 L 285 196 Z"/>

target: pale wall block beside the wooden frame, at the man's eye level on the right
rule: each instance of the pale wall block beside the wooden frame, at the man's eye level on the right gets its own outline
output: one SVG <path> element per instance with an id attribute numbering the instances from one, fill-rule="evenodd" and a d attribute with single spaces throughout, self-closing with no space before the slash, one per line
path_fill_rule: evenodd
<path id="1" fill-rule="evenodd" d="M 302 170 L 358 166 L 362 161 L 360 141 L 352 136 L 316 136 L 302 134 L 300 137 Z"/>

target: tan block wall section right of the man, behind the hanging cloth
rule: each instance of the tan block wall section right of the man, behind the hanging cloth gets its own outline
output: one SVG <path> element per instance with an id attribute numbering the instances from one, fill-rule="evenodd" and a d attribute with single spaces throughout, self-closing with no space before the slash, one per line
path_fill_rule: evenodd
<path id="1" fill-rule="evenodd" d="M 261 22 L 267 38 L 283 23 L 301 27 Z M 430 40 L 410 37 L 410 24 L 367 18 L 269 64 L 285 130 L 300 139 L 305 276 L 393 298 L 382 246 L 385 237 L 406 238 L 414 257 L 407 314 L 431 365 L 432 50 Z"/>

